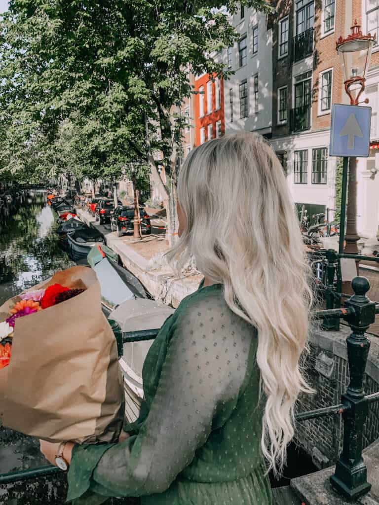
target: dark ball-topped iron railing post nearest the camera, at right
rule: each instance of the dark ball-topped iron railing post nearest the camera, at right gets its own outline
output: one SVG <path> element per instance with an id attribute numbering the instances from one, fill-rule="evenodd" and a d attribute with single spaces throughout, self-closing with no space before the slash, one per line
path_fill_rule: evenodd
<path id="1" fill-rule="evenodd" d="M 342 414 L 344 420 L 344 442 L 340 459 L 331 485 L 349 500 L 367 493 L 371 484 L 367 482 L 367 469 L 362 458 L 363 425 L 368 413 L 368 400 L 363 390 L 370 341 L 365 332 L 375 320 L 375 304 L 366 296 L 370 283 L 365 277 L 355 277 L 351 286 L 354 295 L 345 301 L 346 307 L 354 309 L 344 319 L 352 330 L 347 338 L 350 383 L 342 403 L 348 409 Z"/>

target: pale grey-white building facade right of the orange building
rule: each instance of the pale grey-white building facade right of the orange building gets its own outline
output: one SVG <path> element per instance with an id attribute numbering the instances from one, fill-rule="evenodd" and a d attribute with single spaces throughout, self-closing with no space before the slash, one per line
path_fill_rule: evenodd
<path id="1" fill-rule="evenodd" d="M 225 133 L 271 133 L 272 126 L 272 30 L 267 15 L 241 7 L 231 23 L 238 42 L 223 52 L 225 66 L 235 71 L 224 80 Z"/>

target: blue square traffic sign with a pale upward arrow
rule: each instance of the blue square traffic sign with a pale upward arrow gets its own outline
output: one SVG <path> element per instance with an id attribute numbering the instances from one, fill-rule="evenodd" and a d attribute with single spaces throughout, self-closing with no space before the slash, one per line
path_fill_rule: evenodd
<path id="1" fill-rule="evenodd" d="M 371 107 L 334 104 L 331 108 L 329 156 L 367 158 Z"/>

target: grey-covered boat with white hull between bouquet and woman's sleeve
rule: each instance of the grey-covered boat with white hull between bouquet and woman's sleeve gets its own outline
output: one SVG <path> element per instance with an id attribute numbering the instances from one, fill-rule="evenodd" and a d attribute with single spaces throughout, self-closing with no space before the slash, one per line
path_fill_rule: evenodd
<path id="1" fill-rule="evenodd" d="M 116 321 L 122 332 L 151 330 L 161 328 L 175 309 L 163 301 L 137 298 L 124 301 L 109 315 L 109 320 Z M 134 422 L 138 417 L 141 400 L 144 395 L 142 368 L 153 340 L 128 342 L 123 346 L 120 367 L 124 375 L 125 417 Z"/>

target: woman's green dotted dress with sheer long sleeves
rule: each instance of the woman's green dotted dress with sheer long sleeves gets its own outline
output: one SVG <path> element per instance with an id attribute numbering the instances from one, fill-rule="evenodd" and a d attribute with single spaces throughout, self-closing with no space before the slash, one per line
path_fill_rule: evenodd
<path id="1" fill-rule="evenodd" d="M 141 505 L 272 505 L 260 450 L 257 332 L 234 314 L 223 284 L 180 302 L 151 346 L 131 436 L 75 445 L 67 501 L 140 496 Z"/>

